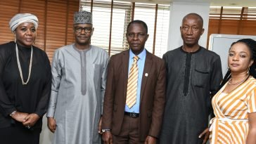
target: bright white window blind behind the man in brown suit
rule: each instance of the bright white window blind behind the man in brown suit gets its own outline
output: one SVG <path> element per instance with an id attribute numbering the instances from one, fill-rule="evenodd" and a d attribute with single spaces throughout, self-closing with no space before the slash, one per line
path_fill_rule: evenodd
<path id="1" fill-rule="evenodd" d="M 129 48 L 126 30 L 132 18 L 143 20 L 148 25 L 150 37 L 146 41 L 146 49 L 159 57 L 165 53 L 169 27 L 169 5 L 157 6 L 156 4 L 110 0 L 94 0 L 91 4 L 91 0 L 82 0 L 80 8 L 85 11 L 92 10 L 95 30 L 91 44 L 104 48 L 110 55 Z M 156 11 L 158 13 L 155 15 Z M 155 18 L 157 18 L 156 23 Z M 154 40 L 155 46 L 153 46 Z M 153 51 L 153 47 L 155 47 L 155 51 Z"/>

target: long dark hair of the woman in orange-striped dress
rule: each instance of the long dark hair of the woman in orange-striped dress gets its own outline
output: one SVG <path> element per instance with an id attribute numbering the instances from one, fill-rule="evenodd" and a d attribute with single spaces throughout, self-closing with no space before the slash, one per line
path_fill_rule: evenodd
<path id="1" fill-rule="evenodd" d="M 233 44 L 231 44 L 231 47 L 237 43 L 243 43 L 250 49 L 250 55 L 251 59 L 253 60 L 253 63 L 250 66 L 249 74 L 256 79 L 256 41 L 253 39 L 240 39 L 236 42 L 233 42 Z M 224 84 L 226 84 L 226 82 L 229 81 L 230 78 L 231 71 L 228 70 L 228 72 L 226 72 L 225 74 L 224 79 L 222 80 L 222 83 L 219 86 L 219 89 L 222 89 L 222 86 L 224 86 Z"/>

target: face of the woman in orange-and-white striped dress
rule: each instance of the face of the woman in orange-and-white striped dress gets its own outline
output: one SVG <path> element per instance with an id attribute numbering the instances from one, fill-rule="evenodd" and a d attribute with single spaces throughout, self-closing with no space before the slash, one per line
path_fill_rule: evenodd
<path id="1" fill-rule="evenodd" d="M 228 56 L 228 65 L 231 72 L 248 72 L 248 67 L 252 65 L 251 53 L 248 46 L 243 43 L 236 43 L 231 46 Z"/>

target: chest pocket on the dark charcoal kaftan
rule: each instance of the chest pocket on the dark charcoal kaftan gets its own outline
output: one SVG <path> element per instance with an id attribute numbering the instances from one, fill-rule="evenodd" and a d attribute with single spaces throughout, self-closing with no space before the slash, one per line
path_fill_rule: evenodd
<path id="1" fill-rule="evenodd" d="M 204 88 L 207 86 L 208 77 L 210 74 L 210 70 L 203 67 L 195 67 L 194 74 L 193 74 L 193 85 Z"/>

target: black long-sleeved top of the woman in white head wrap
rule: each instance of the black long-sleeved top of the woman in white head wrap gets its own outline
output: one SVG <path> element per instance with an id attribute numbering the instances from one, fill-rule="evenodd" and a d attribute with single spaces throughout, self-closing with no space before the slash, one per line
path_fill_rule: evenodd
<path id="1" fill-rule="evenodd" d="M 23 79 L 27 81 L 31 48 L 18 45 Z M 0 45 L 0 128 L 17 124 L 9 114 L 36 113 L 40 119 L 33 126 L 41 128 L 51 93 L 51 65 L 46 53 L 33 46 L 32 70 L 27 85 L 22 84 L 13 41 Z"/>

